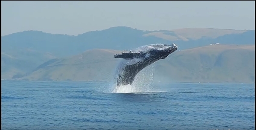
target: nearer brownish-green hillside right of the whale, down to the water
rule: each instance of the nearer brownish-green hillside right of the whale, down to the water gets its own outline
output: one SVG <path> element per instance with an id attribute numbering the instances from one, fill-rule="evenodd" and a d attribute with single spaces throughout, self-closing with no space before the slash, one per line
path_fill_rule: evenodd
<path id="1" fill-rule="evenodd" d="M 159 81 L 252 83 L 255 46 L 219 44 L 187 49 L 158 62 L 156 69 Z"/>

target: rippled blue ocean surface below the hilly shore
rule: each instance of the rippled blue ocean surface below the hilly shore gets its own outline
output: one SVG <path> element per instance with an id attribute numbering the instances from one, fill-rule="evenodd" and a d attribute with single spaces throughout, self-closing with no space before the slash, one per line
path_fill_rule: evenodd
<path id="1" fill-rule="evenodd" d="M 1 85 L 1 130 L 255 130 L 255 84 Z"/>

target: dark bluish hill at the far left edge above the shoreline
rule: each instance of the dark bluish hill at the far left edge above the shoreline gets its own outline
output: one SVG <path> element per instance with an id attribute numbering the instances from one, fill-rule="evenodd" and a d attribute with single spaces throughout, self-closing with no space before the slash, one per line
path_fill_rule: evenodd
<path id="1" fill-rule="evenodd" d="M 56 57 L 50 53 L 31 49 L 1 52 L 1 79 L 19 77 L 53 58 Z"/>

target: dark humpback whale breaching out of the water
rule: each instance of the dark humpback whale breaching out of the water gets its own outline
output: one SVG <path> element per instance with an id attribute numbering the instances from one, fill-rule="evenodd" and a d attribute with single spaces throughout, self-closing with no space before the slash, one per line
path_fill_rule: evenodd
<path id="1" fill-rule="evenodd" d="M 131 85 L 138 72 L 155 61 L 165 59 L 172 52 L 175 52 L 177 48 L 174 43 L 171 45 L 150 44 L 140 46 L 137 49 L 130 50 L 130 52 L 114 55 L 114 58 L 122 58 L 116 70 L 116 86 Z"/>

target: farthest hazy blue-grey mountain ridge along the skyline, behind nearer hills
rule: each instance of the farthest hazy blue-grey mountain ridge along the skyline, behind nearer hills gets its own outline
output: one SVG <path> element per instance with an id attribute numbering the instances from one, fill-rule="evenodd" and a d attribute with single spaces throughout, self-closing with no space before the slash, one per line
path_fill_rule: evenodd
<path id="1" fill-rule="evenodd" d="M 189 31 L 186 32 L 186 30 Z M 193 32 L 193 30 L 195 31 Z M 176 43 L 180 49 L 207 46 L 211 43 L 255 44 L 255 30 L 175 29 L 173 31 L 143 31 L 130 27 L 112 27 L 101 31 L 86 32 L 78 36 L 24 31 L 3 36 L 1 42 L 2 52 L 29 48 L 50 52 L 57 57 L 65 57 L 94 48 L 124 50 L 154 43 Z"/>

